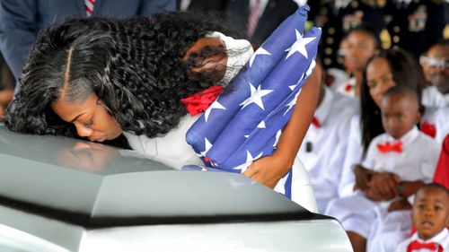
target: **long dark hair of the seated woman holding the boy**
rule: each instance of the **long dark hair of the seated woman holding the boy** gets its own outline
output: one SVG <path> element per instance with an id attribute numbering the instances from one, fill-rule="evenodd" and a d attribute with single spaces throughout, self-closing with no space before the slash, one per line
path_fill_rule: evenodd
<path id="1" fill-rule="evenodd" d="M 398 86 L 408 86 L 410 89 L 417 91 L 419 100 L 421 100 L 422 90 L 425 86 L 424 74 L 418 62 L 401 48 L 388 49 L 371 57 L 366 62 L 360 86 L 360 125 L 364 155 L 371 140 L 385 132 L 382 126 L 381 109 L 371 97 L 366 80 L 366 68 L 376 58 L 384 58 L 392 71 L 394 83 Z M 420 108 L 420 110 L 422 111 L 423 108 Z"/>

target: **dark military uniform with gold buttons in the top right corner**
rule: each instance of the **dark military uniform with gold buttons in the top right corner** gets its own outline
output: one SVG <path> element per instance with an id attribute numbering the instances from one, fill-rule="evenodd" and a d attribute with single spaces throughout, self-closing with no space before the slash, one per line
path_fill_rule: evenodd
<path id="1" fill-rule="evenodd" d="M 433 0 L 390 0 L 383 7 L 392 47 L 418 56 L 443 38 L 445 8 Z"/>

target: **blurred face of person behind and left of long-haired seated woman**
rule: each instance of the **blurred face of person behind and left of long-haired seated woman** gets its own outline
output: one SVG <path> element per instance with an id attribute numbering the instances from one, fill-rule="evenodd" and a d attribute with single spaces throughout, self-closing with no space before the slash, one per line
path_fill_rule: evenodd
<path id="1" fill-rule="evenodd" d="M 354 31 L 348 35 L 344 48 L 345 67 L 350 72 L 362 71 L 368 59 L 378 53 L 374 38 L 363 32 Z"/>

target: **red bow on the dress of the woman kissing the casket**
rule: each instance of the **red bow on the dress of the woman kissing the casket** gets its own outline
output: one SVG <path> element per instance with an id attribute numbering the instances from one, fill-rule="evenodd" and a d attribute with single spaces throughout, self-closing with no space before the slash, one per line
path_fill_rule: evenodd
<path id="1" fill-rule="evenodd" d="M 206 111 L 210 104 L 216 100 L 216 97 L 223 91 L 222 86 L 211 86 L 205 91 L 200 91 L 181 99 L 186 105 L 190 116 L 197 116 L 199 113 Z"/>

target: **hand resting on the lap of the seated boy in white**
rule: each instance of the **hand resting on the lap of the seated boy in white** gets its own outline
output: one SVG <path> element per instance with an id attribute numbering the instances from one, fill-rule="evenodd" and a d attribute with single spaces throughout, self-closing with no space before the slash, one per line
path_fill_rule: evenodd
<path id="1" fill-rule="evenodd" d="M 369 193 L 367 196 L 374 201 L 390 200 L 399 196 L 398 187 L 400 182 L 401 178 L 394 173 L 377 172 L 368 183 Z"/>

